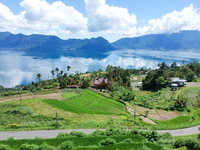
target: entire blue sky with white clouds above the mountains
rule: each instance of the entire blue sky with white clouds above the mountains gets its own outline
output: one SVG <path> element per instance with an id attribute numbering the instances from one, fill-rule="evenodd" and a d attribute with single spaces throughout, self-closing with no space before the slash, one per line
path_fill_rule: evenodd
<path id="1" fill-rule="evenodd" d="M 200 30 L 199 0 L 0 0 L 0 32 L 61 39 Z"/>

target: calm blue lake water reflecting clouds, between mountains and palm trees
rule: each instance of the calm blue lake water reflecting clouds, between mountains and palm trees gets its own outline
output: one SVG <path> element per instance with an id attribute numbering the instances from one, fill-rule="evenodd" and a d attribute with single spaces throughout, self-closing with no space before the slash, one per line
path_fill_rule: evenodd
<path id="1" fill-rule="evenodd" d="M 75 73 L 105 70 L 107 65 L 123 68 L 130 68 L 132 65 L 132 68 L 136 69 L 146 66 L 155 69 L 157 64 L 163 61 L 170 65 L 174 61 L 181 64 L 183 60 L 200 60 L 200 53 L 197 51 L 118 50 L 107 53 L 102 59 L 71 56 L 34 59 L 33 56 L 24 54 L 25 52 L 0 51 L 0 85 L 14 87 L 22 83 L 29 84 L 37 81 L 37 73 L 42 75 L 42 80 L 50 79 L 51 70 L 59 68 L 65 73 L 67 66 L 71 66 L 70 73 Z"/>

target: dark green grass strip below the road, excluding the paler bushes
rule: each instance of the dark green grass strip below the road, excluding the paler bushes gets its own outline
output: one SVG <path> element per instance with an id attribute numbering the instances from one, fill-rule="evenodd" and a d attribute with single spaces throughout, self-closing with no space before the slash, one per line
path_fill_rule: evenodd
<path id="1" fill-rule="evenodd" d="M 141 135 L 124 135 L 124 136 L 110 136 L 110 138 L 116 141 L 116 144 L 110 146 L 99 146 L 101 140 L 106 139 L 106 136 L 101 137 L 65 137 L 65 138 L 53 138 L 53 139 L 19 139 L 19 140 L 4 140 L 0 141 L 0 144 L 9 145 L 12 149 L 20 149 L 22 144 L 40 146 L 44 142 L 54 148 L 58 148 L 59 145 L 65 141 L 73 142 L 73 149 L 139 149 L 143 144 L 150 149 L 159 150 L 162 146 L 155 143 L 150 143 L 145 140 Z M 131 142 L 123 142 L 129 139 Z"/>

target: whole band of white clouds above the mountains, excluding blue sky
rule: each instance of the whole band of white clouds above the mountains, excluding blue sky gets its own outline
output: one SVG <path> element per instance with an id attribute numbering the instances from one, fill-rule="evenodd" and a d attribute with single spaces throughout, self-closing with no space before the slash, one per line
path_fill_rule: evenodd
<path id="1" fill-rule="evenodd" d="M 131 14 L 127 8 L 108 5 L 106 0 L 82 1 L 85 3 L 86 14 L 78 12 L 73 6 L 67 6 L 67 1 L 49 3 L 48 0 L 22 0 L 22 11 L 18 14 L 0 3 L 0 31 L 13 33 L 28 30 L 27 33 L 31 34 L 59 37 L 70 34 L 92 36 L 99 33 L 136 37 L 180 30 L 200 31 L 200 12 L 193 4 L 160 18 L 152 17 L 145 25 L 140 25 L 136 19 L 139 14 Z"/>

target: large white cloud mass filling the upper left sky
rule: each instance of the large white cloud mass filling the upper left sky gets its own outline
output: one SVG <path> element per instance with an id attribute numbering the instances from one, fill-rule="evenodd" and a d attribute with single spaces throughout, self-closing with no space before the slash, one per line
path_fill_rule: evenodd
<path id="1" fill-rule="evenodd" d="M 61 1 L 49 4 L 45 0 L 23 0 L 20 5 L 24 11 L 14 15 L 8 7 L 0 3 L 0 30 L 46 30 L 63 26 L 69 33 L 78 33 L 87 28 L 88 19 Z"/>

